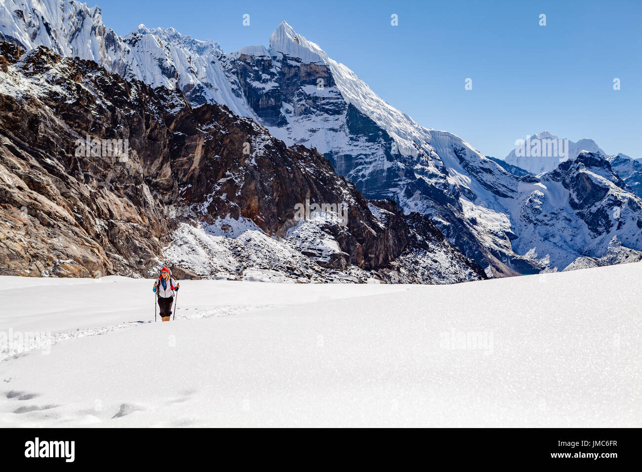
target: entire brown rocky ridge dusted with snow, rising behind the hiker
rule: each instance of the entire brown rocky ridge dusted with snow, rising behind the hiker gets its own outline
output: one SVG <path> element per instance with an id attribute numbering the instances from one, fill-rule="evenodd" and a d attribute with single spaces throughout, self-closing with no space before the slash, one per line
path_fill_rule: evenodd
<path id="1" fill-rule="evenodd" d="M 95 62 L 0 51 L 3 274 L 149 275 L 171 261 L 184 276 L 391 281 L 405 267 L 416 238 L 403 213 L 377 218 L 317 152 Z M 105 148 L 118 139 L 126 152 Z M 300 218 L 298 204 L 330 206 Z M 440 247 L 458 266 L 442 282 L 480 277 Z"/>

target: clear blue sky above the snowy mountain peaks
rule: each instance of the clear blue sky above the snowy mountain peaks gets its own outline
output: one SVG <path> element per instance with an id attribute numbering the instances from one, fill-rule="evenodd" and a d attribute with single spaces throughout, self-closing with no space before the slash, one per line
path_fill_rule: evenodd
<path id="1" fill-rule="evenodd" d="M 140 23 L 173 26 L 226 52 L 267 46 L 285 20 L 388 103 L 487 155 L 505 157 L 516 139 L 549 130 L 642 157 L 640 0 L 98 1 L 120 35 Z"/>

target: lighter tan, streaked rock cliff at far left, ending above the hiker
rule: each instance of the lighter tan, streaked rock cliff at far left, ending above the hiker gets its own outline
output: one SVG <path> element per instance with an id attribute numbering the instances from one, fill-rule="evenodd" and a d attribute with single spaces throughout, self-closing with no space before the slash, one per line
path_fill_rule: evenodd
<path id="1" fill-rule="evenodd" d="M 1 51 L 3 274 L 150 270 L 169 231 L 162 197 L 150 188 L 170 186 L 168 175 L 149 177 L 168 144 L 164 125 L 153 118 L 159 99 L 94 62 L 46 48 L 20 60 L 23 51 L 7 43 Z M 76 140 L 88 134 L 130 139 L 129 159 L 76 156 Z"/>

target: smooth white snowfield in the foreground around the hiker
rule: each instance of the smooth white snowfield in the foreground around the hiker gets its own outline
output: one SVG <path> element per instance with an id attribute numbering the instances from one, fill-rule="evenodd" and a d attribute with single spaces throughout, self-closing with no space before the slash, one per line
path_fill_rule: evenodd
<path id="1" fill-rule="evenodd" d="M 0 336 L 55 343 L 0 362 L 0 424 L 639 427 L 641 278 L 183 281 L 154 324 L 152 281 L 0 277 Z"/>

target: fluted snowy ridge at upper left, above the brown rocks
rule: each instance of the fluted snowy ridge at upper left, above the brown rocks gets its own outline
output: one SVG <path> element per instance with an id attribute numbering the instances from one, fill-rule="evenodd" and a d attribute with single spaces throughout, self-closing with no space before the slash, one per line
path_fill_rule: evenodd
<path id="1" fill-rule="evenodd" d="M 150 30 L 141 24 L 121 38 L 103 24 L 97 6 L 74 0 L 0 0 L 0 40 L 93 60 L 126 80 L 179 89 L 195 105 L 224 104 L 235 114 L 255 118 L 238 83 L 221 68 L 218 43 L 182 36 L 173 28 Z"/>

